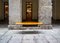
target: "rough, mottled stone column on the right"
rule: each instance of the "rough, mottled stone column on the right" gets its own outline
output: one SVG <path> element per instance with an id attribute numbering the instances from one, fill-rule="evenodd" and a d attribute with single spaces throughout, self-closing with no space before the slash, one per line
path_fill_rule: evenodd
<path id="1" fill-rule="evenodd" d="M 51 0 L 39 0 L 38 9 L 39 22 L 43 22 L 43 25 L 39 25 L 43 28 L 51 28 L 51 17 L 52 17 L 52 1 Z"/>

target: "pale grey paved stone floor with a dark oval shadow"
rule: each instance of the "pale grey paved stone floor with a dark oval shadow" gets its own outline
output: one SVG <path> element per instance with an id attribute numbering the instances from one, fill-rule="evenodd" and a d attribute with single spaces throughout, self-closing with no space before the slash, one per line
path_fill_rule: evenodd
<path id="1" fill-rule="evenodd" d="M 0 28 L 0 43 L 60 43 L 60 25 L 34 31 Z"/>

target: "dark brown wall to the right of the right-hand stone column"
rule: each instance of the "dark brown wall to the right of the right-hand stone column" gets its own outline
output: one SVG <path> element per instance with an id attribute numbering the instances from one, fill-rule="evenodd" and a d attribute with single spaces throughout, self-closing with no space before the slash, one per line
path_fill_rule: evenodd
<path id="1" fill-rule="evenodd" d="M 53 18 L 60 19 L 60 0 L 54 0 Z"/>

